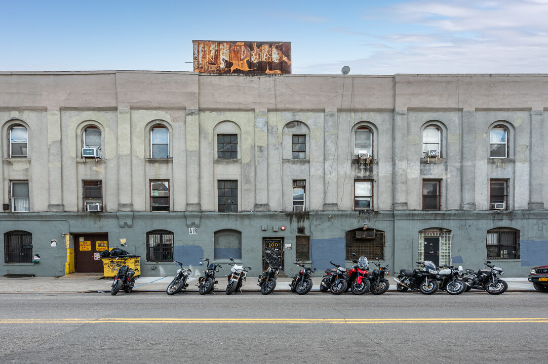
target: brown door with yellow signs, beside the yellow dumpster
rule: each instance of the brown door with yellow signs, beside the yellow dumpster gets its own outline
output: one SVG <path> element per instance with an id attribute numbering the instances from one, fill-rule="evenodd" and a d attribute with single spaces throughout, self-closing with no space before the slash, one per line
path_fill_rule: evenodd
<path id="1" fill-rule="evenodd" d="M 99 254 L 109 250 L 109 234 L 74 234 L 74 260 L 77 273 L 103 273 Z"/>

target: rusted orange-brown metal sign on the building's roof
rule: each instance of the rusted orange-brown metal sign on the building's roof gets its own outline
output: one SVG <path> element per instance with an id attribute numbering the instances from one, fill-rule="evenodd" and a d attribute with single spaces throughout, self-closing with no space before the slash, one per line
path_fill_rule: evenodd
<path id="1" fill-rule="evenodd" d="M 290 42 L 192 41 L 194 71 L 291 73 Z"/>

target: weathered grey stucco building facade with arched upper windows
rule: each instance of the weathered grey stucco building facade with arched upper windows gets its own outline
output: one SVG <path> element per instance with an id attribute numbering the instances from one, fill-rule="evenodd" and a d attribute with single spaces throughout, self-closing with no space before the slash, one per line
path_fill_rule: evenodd
<path id="1" fill-rule="evenodd" d="M 271 248 L 288 275 L 356 252 L 525 276 L 547 108 L 544 74 L 0 72 L 0 274 L 102 271 L 125 239 L 142 275 L 258 275 Z"/>

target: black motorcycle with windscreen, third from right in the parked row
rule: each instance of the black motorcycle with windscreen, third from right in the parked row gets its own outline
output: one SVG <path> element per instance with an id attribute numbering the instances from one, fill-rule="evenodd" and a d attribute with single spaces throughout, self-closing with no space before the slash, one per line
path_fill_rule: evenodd
<path id="1" fill-rule="evenodd" d="M 400 269 L 396 281 L 396 289 L 398 292 L 406 292 L 407 290 L 419 290 L 424 294 L 436 293 L 439 289 L 439 282 L 436 279 L 438 270 L 436 265 L 431 261 L 416 262 L 420 269 Z"/>

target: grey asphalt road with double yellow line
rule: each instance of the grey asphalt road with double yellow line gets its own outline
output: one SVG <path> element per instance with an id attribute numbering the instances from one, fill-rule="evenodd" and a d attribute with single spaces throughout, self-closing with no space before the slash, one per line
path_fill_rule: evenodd
<path id="1" fill-rule="evenodd" d="M 1 363 L 546 362 L 548 294 L 0 294 Z"/>

